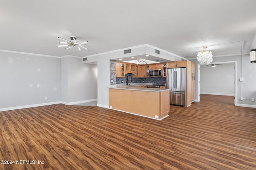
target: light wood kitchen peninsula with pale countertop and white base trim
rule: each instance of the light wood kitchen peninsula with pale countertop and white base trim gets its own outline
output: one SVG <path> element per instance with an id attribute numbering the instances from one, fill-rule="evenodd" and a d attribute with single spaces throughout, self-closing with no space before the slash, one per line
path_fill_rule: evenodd
<path id="1" fill-rule="evenodd" d="M 109 108 L 152 119 L 169 116 L 169 89 L 146 86 L 109 87 Z"/>

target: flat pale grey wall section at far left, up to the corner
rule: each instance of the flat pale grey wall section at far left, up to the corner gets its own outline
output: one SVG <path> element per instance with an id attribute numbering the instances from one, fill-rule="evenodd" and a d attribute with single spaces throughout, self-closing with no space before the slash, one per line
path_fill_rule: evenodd
<path id="1" fill-rule="evenodd" d="M 56 101 L 60 58 L 0 52 L 0 109 Z"/>

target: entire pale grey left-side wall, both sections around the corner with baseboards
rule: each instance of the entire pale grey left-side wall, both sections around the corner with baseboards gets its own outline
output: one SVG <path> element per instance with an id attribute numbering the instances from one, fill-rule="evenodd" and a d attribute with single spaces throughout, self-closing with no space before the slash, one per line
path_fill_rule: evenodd
<path id="1" fill-rule="evenodd" d="M 97 71 L 78 57 L 0 51 L 0 111 L 95 101 Z"/>

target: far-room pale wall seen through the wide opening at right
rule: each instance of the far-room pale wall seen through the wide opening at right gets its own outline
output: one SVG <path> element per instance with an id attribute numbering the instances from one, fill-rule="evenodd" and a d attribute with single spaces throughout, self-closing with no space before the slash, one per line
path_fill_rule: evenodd
<path id="1" fill-rule="evenodd" d="M 235 95 L 235 64 L 200 66 L 200 94 Z"/>

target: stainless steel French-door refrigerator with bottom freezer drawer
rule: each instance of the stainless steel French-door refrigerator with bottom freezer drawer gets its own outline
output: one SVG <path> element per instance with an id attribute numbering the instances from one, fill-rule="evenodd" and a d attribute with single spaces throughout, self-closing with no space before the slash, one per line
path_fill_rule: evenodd
<path id="1" fill-rule="evenodd" d="M 186 68 L 167 68 L 166 76 L 170 104 L 186 106 Z"/>

